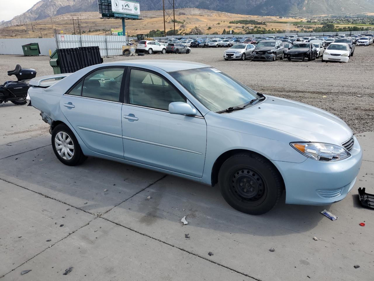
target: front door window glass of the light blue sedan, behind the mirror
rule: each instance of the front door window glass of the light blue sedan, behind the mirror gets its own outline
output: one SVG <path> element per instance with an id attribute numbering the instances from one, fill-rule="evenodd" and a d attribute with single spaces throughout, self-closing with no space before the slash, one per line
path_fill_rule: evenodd
<path id="1" fill-rule="evenodd" d="M 157 109 L 169 109 L 169 103 L 186 99 L 161 76 L 137 69 L 130 73 L 129 103 Z"/>

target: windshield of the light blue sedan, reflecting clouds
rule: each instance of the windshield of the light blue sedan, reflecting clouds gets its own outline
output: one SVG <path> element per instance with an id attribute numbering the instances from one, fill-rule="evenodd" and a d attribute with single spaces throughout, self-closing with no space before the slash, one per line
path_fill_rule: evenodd
<path id="1" fill-rule="evenodd" d="M 242 106 L 260 98 L 255 91 L 213 67 L 169 73 L 211 111 Z"/>

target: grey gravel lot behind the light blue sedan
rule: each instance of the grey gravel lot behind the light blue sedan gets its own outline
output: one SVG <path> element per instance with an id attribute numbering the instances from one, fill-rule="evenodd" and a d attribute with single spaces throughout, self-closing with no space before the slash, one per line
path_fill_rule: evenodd
<path id="1" fill-rule="evenodd" d="M 321 59 L 307 63 L 225 61 L 223 51 L 224 48 L 193 48 L 190 54 L 116 56 L 105 57 L 104 61 L 154 58 L 206 63 L 256 91 L 325 109 L 346 121 L 354 133 L 374 131 L 374 45 L 356 47 L 348 63 L 322 63 Z M 0 81 L 9 79 L 6 70 L 14 69 L 17 63 L 35 68 L 38 76 L 53 74 L 46 56 L 0 55 Z"/>

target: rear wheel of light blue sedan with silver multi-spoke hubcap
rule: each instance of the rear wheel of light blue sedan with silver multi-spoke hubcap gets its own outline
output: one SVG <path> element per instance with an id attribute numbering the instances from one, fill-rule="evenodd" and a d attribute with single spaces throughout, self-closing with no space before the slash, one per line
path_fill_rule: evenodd
<path id="1" fill-rule="evenodd" d="M 68 166 L 82 164 L 87 159 L 77 138 L 65 124 L 59 124 L 53 129 L 52 148 L 58 160 Z"/>

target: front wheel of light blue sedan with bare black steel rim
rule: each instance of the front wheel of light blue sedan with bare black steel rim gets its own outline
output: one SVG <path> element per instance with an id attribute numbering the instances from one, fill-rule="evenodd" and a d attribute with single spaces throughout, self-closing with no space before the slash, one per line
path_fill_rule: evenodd
<path id="1" fill-rule="evenodd" d="M 282 194 L 278 171 L 257 154 L 236 154 L 228 158 L 220 168 L 218 183 L 230 206 L 251 215 L 270 211 Z"/>

